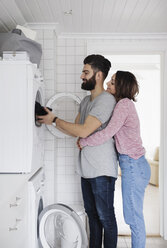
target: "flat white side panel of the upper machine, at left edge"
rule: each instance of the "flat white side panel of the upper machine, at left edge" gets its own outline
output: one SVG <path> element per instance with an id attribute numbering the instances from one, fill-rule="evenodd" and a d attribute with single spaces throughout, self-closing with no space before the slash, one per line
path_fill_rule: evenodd
<path id="1" fill-rule="evenodd" d="M 0 172 L 27 165 L 27 66 L 0 63 Z"/>

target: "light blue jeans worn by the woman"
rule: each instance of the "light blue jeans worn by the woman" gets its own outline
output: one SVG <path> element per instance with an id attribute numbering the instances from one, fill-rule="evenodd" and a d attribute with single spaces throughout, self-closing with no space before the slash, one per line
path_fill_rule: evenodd
<path id="1" fill-rule="evenodd" d="M 119 154 L 122 175 L 123 213 L 130 226 L 132 248 L 145 248 L 146 231 L 143 217 L 145 188 L 150 179 L 150 166 L 144 156 L 139 159 Z"/>

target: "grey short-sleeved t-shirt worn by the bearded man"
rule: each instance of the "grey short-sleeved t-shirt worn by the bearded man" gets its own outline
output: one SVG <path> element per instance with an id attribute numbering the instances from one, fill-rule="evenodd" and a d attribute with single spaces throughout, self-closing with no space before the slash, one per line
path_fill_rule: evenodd
<path id="1" fill-rule="evenodd" d="M 96 117 L 102 125 L 96 130 L 104 129 L 115 107 L 115 98 L 103 91 L 93 101 L 86 96 L 80 104 L 80 124 L 85 122 L 88 115 Z M 86 146 L 79 152 L 77 172 L 84 178 L 98 176 L 117 177 L 118 164 L 114 139 L 109 139 L 98 146 Z"/>

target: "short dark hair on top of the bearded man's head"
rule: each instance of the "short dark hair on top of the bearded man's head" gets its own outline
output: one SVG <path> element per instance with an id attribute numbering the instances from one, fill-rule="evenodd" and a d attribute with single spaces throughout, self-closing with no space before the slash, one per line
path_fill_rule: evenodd
<path id="1" fill-rule="evenodd" d="M 94 72 L 101 71 L 103 73 L 103 78 L 105 79 L 108 75 L 108 72 L 111 68 L 111 62 L 106 59 L 104 56 L 99 54 L 88 55 L 84 59 L 84 65 L 91 65 Z"/>

